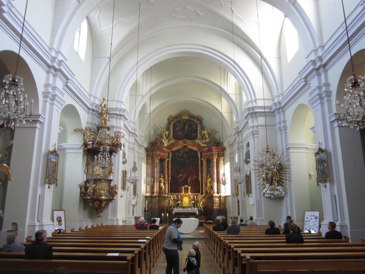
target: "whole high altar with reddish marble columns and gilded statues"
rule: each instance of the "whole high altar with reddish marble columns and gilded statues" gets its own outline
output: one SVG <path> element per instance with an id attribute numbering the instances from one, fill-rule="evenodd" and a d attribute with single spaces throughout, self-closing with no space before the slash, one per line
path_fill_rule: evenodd
<path id="1" fill-rule="evenodd" d="M 168 129 L 161 131 L 147 147 L 147 174 L 153 184 L 146 186 L 145 216 L 182 217 L 172 214 L 174 208 L 197 208 L 184 217 L 204 215 L 208 220 L 227 215 L 226 196 L 221 195 L 225 147 L 218 146 L 213 132 L 202 128 L 203 118 L 184 110 L 168 117 Z"/>

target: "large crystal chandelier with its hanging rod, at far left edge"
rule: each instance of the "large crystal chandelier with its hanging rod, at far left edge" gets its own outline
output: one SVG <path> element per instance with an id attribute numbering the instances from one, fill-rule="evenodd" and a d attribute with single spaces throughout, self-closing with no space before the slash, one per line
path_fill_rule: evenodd
<path id="1" fill-rule="evenodd" d="M 0 93 L 0 125 L 14 129 L 20 123 L 26 123 L 26 119 L 33 115 L 33 100 L 30 101 L 30 113 L 28 113 L 29 103 L 27 95 L 24 93 L 23 77 L 18 76 L 18 64 L 20 48 L 22 47 L 22 38 L 24 30 L 25 16 L 27 13 L 28 0 L 25 7 L 22 34 L 20 35 L 18 60 L 14 76 L 7 74 L 3 82 L 5 87 Z"/>

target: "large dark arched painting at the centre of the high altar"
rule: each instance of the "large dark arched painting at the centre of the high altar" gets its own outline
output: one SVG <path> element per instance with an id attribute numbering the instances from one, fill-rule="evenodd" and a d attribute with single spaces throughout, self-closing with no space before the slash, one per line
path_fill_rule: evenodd
<path id="1" fill-rule="evenodd" d="M 201 193 L 199 152 L 187 146 L 171 153 L 170 193 L 181 193 L 183 186 L 190 187 L 191 193 Z"/>

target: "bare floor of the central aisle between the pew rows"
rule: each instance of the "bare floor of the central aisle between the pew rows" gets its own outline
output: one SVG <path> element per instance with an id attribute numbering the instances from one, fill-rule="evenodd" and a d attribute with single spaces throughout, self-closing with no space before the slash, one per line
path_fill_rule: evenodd
<path id="1" fill-rule="evenodd" d="M 199 241 L 201 244 L 200 248 L 200 254 L 201 254 L 201 261 L 200 261 L 200 273 L 205 274 L 219 274 L 220 271 L 218 267 L 216 266 L 214 260 L 208 253 L 207 247 L 204 244 L 204 236 L 203 233 L 201 233 L 203 229 L 197 228 L 194 232 L 190 234 L 181 234 L 181 238 L 183 239 L 183 251 L 179 251 L 179 258 L 180 258 L 180 273 L 186 273 L 183 272 L 185 259 L 188 255 L 188 251 L 190 248 L 192 248 L 193 242 Z M 165 254 L 162 253 L 160 261 L 158 262 L 155 271 L 153 274 L 165 274 L 166 270 L 166 258 Z"/>

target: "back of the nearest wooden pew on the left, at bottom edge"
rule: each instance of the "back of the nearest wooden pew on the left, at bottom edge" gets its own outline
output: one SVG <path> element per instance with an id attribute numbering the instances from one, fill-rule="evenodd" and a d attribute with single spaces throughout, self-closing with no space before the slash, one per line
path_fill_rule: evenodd
<path id="1" fill-rule="evenodd" d="M 58 267 L 66 267 L 73 273 L 130 274 L 127 261 L 0 259 L 0 272 L 4 274 L 47 274 Z"/>

